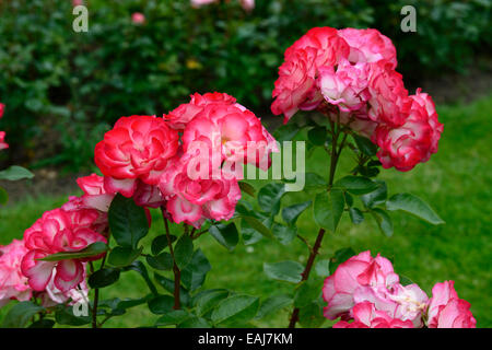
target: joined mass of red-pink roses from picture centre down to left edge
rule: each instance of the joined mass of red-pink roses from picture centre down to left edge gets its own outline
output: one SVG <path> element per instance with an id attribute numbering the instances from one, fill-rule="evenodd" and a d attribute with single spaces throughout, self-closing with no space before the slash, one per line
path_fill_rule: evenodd
<path id="1" fill-rule="evenodd" d="M 101 256 L 43 258 L 106 243 L 107 212 L 118 192 L 145 208 L 149 224 L 148 208 L 159 207 L 172 221 L 195 228 L 206 219 L 231 219 L 241 198 L 241 176 L 224 170 L 246 162 L 268 168 L 272 150 L 274 139 L 260 119 L 223 93 L 196 93 L 163 117 L 120 118 L 95 147 L 104 176 L 79 178 L 81 197 L 45 212 L 22 242 L 2 248 L 8 254 L 0 264 L 12 273 L 0 277 L 0 300 L 26 300 L 32 291 L 86 294 L 85 264 Z"/>

